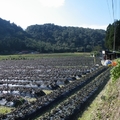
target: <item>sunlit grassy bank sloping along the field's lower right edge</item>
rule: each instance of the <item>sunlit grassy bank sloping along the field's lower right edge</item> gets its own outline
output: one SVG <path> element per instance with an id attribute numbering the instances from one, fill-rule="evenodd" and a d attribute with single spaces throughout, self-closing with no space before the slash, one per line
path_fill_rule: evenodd
<path id="1" fill-rule="evenodd" d="M 120 120 L 120 79 L 110 80 L 78 120 Z"/>

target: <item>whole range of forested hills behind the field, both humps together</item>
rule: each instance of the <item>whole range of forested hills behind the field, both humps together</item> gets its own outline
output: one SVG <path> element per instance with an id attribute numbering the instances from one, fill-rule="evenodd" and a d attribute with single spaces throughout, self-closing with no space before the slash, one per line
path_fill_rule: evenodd
<path id="1" fill-rule="evenodd" d="M 0 18 L 0 54 L 21 51 L 90 52 L 104 48 L 105 31 L 54 24 L 20 26 Z"/>

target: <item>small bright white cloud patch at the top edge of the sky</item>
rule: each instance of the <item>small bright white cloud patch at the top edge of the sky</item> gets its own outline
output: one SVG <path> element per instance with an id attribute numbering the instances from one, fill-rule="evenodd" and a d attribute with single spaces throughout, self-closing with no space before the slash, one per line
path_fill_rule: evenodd
<path id="1" fill-rule="evenodd" d="M 39 0 L 45 7 L 60 7 L 64 5 L 65 0 Z"/>

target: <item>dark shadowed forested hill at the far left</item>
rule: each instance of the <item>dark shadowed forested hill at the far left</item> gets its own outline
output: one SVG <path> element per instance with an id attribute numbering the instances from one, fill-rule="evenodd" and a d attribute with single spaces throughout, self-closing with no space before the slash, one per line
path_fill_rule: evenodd
<path id="1" fill-rule="evenodd" d="M 21 27 L 0 18 L 0 53 L 15 53 L 27 49 L 26 38 L 30 37 Z"/>

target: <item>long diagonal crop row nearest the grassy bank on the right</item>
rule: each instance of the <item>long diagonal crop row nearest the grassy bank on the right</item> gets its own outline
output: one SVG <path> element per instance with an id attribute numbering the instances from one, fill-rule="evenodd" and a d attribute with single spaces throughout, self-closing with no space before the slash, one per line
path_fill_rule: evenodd
<path id="1" fill-rule="evenodd" d="M 39 120 L 72 120 L 77 110 L 82 110 L 88 99 L 109 79 L 109 70 L 105 71 L 89 84 L 76 91 L 69 98 L 42 115 Z"/>

